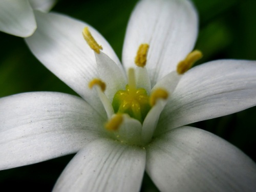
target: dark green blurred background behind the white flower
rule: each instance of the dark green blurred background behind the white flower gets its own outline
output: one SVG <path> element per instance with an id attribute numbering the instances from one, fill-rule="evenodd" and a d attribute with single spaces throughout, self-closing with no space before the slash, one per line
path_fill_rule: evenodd
<path id="1" fill-rule="evenodd" d="M 65 13 L 94 26 L 110 42 L 120 58 L 126 24 L 136 2 L 62 0 L 53 11 Z M 198 63 L 221 58 L 256 60 L 256 1 L 194 0 L 194 3 L 200 16 L 196 48 L 204 54 Z M 0 32 L 0 42 L 0 97 L 31 91 L 75 94 L 37 61 L 24 39 Z M 255 115 L 254 107 L 240 113 L 194 123 L 193 126 L 219 135 L 256 161 Z M 69 155 L 2 170 L 0 190 L 18 187 L 21 191 L 50 191 L 72 157 L 73 155 Z M 142 191 L 156 190 L 147 176 L 143 181 Z"/>

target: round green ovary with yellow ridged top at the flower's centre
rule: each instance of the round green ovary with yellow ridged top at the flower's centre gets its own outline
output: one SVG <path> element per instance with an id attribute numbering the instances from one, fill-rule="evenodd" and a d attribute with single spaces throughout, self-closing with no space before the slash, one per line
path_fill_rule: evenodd
<path id="1" fill-rule="evenodd" d="M 151 109 L 146 90 L 143 88 L 131 89 L 128 84 L 125 90 L 116 92 L 112 105 L 115 113 L 126 113 L 141 123 Z"/>

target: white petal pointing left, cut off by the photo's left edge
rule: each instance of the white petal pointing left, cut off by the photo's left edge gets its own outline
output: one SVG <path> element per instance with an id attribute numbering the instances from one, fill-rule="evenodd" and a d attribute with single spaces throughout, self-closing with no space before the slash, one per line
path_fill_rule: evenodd
<path id="1" fill-rule="evenodd" d="M 0 169 L 75 153 L 98 138 L 103 120 L 83 99 L 33 92 L 0 99 Z"/>

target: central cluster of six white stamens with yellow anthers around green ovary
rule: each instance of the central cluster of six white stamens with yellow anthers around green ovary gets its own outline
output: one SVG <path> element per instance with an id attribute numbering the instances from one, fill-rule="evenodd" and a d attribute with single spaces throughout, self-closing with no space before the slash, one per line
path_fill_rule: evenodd
<path id="1" fill-rule="evenodd" d="M 100 51 L 102 47 L 93 38 L 88 27 L 84 28 L 83 37 L 95 52 L 100 79 L 93 79 L 89 88 L 95 87 L 108 116 L 108 121 L 104 124 L 105 129 L 110 131 L 111 137 L 120 142 L 140 146 L 150 142 L 169 94 L 175 90 L 181 75 L 202 57 L 202 53 L 189 53 L 178 63 L 176 71 L 170 72 L 152 88 L 145 68 L 148 44 L 139 46 L 134 60 L 137 67 L 127 71 L 126 81 L 124 76 L 118 75 L 122 71 L 116 63 Z"/>

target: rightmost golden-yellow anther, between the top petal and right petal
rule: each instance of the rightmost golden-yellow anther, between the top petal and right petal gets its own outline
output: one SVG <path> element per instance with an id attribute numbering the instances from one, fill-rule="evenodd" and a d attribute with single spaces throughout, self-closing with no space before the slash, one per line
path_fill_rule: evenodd
<path id="1" fill-rule="evenodd" d="M 180 61 L 177 65 L 177 73 L 178 74 L 184 74 L 186 71 L 188 71 L 194 63 L 201 59 L 203 56 L 201 51 L 195 50 L 189 53 L 186 58 L 182 61 Z"/>

